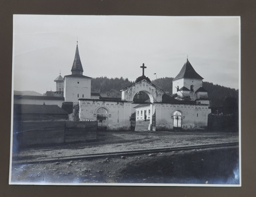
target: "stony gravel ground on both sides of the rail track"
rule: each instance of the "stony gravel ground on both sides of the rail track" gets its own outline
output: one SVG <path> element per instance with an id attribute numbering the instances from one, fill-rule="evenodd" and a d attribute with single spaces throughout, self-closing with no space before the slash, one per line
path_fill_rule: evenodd
<path id="1" fill-rule="evenodd" d="M 35 158 L 238 141 L 238 133 L 99 131 L 95 142 L 22 148 L 14 152 L 13 159 L 23 163 L 12 164 L 11 180 L 14 184 L 215 184 L 217 179 L 220 184 L 238 184 L 234 175 L 239 163 L 237 148 L 27 163 Z"/>

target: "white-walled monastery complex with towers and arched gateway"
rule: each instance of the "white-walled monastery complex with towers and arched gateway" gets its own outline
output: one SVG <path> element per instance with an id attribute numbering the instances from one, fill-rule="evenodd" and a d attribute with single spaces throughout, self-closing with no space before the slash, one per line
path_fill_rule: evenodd
<path id="1" fill-rule="evenodd" d="M 135 83 L 120 90 L 122 98 L 102 98 L 99 93 L 91 92 L 91 77 L 83 75 L 83 67 L 79 56 L 78 45 L 71 75 L 59 75 L 56 91 L 47 91 L 44 96 L 17 96 L 14 103 L 19 104 L 57 104 L 63 109 L 79 105 L 80 120 L 98 121 L 98 127 L 106 130 L 130 130 L 135 120 L 144 120 L 145 113 L 150 121 L 149 130 L 194 130 L 207 127 L 209 99 L 207 91 L 202 87 L 203 78 L 195 72 L 186 60 L 180 73 L 173 79 L 173 95 L 168 96 L 159 87 L 151 83 L 144 75 Z M 134 97 L 139 92 L 149 96 L 147 103 L 135 103 Z M 70 111 L 71 113 L 71 111 Z"/>

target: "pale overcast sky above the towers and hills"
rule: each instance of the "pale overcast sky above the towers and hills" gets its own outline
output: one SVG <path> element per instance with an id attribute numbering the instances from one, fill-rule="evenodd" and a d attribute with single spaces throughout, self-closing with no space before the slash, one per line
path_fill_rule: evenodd
<path id="1" fill-rule="evenodd" d="M 55 91 L 76 39 L 88 77 L 176 77 L 187 55 L 204 81 L 239 88 L 238 17 L 14 15 L 14 90 Z M 154 75 L 156 73 L 156 75 Z"/>

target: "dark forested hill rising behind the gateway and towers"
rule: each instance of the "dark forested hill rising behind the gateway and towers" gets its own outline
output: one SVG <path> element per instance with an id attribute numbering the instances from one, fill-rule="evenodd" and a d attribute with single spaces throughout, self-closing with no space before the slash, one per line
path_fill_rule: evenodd
<path id="1" fill-rule="evenodd" d="M 166 94 L 172 94 L 172 77 L 158 78 L 151 82 L 161 88 Z M 92 79 L 92 92 L 100 92 L 102 97 L 121 97 L 120 90 L 131 85 L 134 81 L 129 81 L 128 78 L 108 78 L 96 77 Z M 214 85 L 211 82 L 203 82 L 203 87 L 208 91 L 211 106 L 222 106 L 225 97 L 234 97 L 238 100 L 238 90 L 220 85 Z"/>

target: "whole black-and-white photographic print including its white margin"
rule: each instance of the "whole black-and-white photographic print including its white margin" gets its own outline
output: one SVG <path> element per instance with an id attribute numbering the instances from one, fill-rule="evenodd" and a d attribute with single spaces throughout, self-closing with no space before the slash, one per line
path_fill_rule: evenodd
<path id="1" fill-rule="evenodd" d="M 239 16 L 13 16 L 9 184 L 241 186 Z"/>

